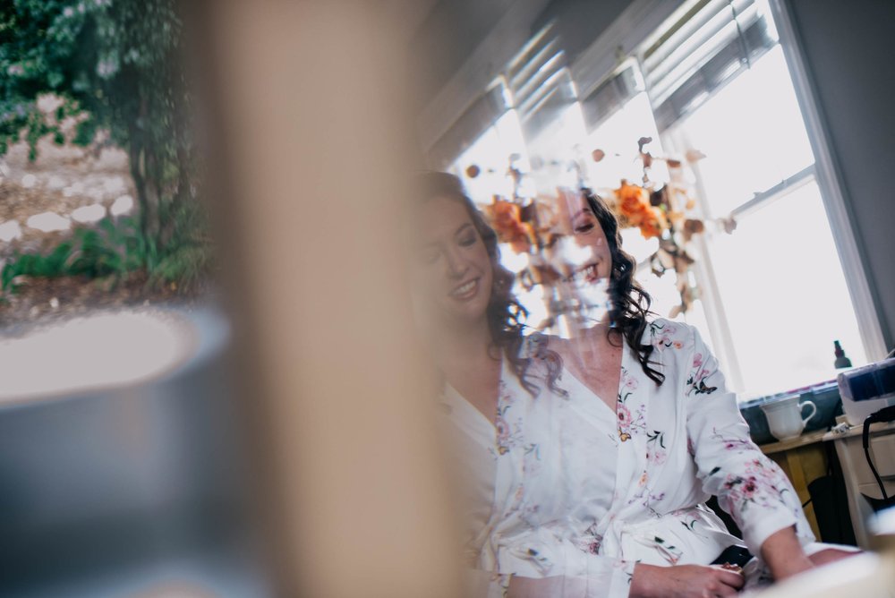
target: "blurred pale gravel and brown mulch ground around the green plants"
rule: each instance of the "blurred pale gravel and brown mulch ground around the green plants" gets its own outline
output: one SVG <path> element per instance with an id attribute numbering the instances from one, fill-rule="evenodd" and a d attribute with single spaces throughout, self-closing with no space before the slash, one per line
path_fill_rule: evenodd
<path id="1" fill-rule="evenodd" d="M 76 222 L 74 210 L 99 205 L 109 214 L 113 205 L 133 203 L 134 195 L 122 149 L 106 148 L 95 155 L 44 139 L 38 144 L 38 159 L 30 162 L 25 143 L 13 145 L 0 157 L 0 269 L 16 252 L 47 252 L 71 236 L 74 227 L 93 226 Z M 68 218 L 71 226 L 50 232 L 29 226 L 30 218 L 46 213 Z M 13 231 L 13 238 L 4 239 L 4 231 L 6 235 Z M 94 309 L 191 303 L 206 291 L 176 285 L 151 288 L 145 273 L 117 283 L 77 277 L 23 278 L 17 292 L 0 295 L 0 337 Z"/>

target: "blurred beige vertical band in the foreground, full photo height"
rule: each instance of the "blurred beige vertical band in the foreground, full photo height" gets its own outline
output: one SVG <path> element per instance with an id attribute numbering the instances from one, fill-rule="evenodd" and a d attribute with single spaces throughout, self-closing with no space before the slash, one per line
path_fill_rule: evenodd
<path id="1" fill-rule="evenodd" d="M 228 209 L 277 595 L 458 595 L 397 234 L 413 169 L 398 17 L 412 4 L 233 0 L 200 15 L 210 196 Z"/>

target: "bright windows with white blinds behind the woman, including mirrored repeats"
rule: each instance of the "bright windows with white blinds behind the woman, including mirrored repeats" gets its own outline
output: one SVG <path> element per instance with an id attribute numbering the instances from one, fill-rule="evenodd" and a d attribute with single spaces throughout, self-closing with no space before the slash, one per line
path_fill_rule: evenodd
<path id="1" fill-rule="evenodd" d="M 697 208 L 707 223 L 733 218 L 737 229 L 706 226 L 695 237 L 687 276 L 700 299 L 680 317 L 711 338 L 741 400 L 831 380 L 834 340 L 852 363 L 867 362 L 824 202 L 828 179 L 818 175 L 766 2 L 688 0 L 584 98 L 573 72 L 549 27 L 507 65 L 501 85 L 512 109 L 452 168 L 464 175 L 471 164 L 484 166 L 478 180 L 465 177 L 473 199 L 511 196 L 511 153 L 531 196 L 574 184 L 582 170 L 598 192 L 638 180 L 641 137 L 652 137 L 653 155 L 698 150 L 706 158 L 690 172 Z M 589 159 L 592 149 L 605 152 L 599 164 Z M 577 170 L 569 167 L 575 160 Z M 651 178 L 667 181 L 668 172 L 660 164 Z M 654 311 L 668 314 L 680 295 L 673 273 L 657 278 L 647 263 L 658 241 L 635 228 L 623 236 Z M 511 269 L 524 265 L 504 255 Z M 542 297 L 520 298 L 536 315 Z"/>

